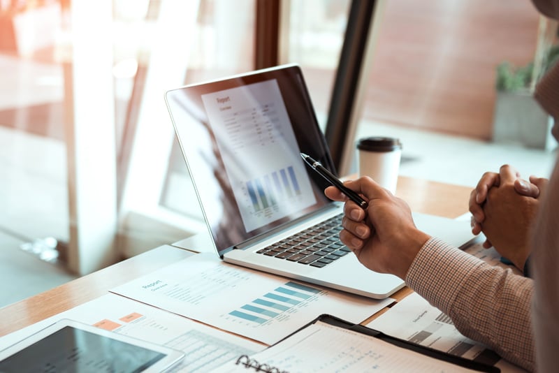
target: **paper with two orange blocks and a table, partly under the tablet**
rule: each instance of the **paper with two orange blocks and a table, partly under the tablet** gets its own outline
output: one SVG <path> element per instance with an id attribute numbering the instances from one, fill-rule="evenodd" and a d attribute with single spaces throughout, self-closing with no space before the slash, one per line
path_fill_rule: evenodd
<path id="1" fill-rule="evenodd" d="M 235 360 L 239 354 L 255 353 L 266 347 L 182 316 L 108 293 L 1 337 L 0 350 L 60 319 L 80 321 L 184 351 L 186 356 L 180 365 L 173 368 L 173 372 L 208 372 Z"/>

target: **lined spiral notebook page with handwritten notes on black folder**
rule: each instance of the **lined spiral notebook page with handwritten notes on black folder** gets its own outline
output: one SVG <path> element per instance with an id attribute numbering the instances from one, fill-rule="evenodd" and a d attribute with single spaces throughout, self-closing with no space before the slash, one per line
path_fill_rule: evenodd
<path id="1" fill-rule="evenodd" d="M 473 372 L 351 330 L 317 321 L 275 346 L 215 372 Z M 256 367 L 256 368 L 255 368 Z M 277 370 L 274 370 L 277 368 Z M 262 371 L 262 370 L 260 370 Z"/>

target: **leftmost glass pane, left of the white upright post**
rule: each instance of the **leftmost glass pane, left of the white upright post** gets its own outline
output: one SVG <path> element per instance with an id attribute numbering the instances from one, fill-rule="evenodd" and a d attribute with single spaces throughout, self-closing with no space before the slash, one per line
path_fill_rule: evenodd
<path id="1" fill-rule="evenodd" d="M 74 277 L 57 264 L 69 236 L 63 28 L 58 1 L 0 2 L 0 281 L 18 281 L 0 307 Z"/>

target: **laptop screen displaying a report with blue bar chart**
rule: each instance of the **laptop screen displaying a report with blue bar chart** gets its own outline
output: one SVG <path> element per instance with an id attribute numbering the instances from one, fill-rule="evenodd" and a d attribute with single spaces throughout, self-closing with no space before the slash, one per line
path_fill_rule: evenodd
<path id="1" fill-rule="evenodd" d="M 298 66 L 173 89 L 166 101 L 220 254 L 330 202 L 300 157 L 333 170 Z"/>

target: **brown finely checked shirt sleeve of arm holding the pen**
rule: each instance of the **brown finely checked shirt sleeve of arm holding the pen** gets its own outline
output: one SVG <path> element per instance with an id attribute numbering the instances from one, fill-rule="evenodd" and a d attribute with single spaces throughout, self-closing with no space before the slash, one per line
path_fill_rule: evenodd
<path id="1" fill-rule="evenodd" d="M 532 279 L 431 238 L 410 266 L 406 283 L 447 314 L 463 335 L 535 370 Z"/>

